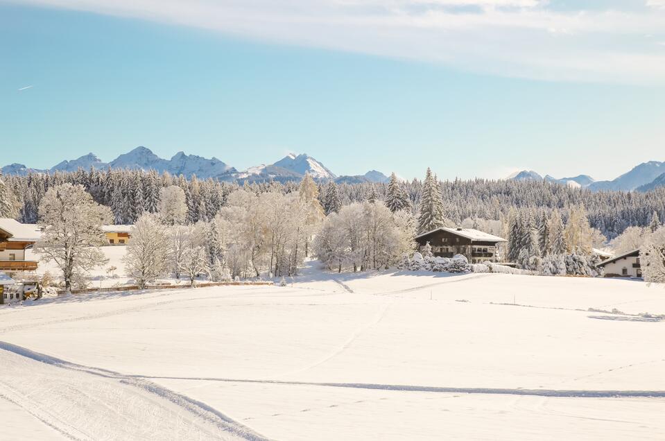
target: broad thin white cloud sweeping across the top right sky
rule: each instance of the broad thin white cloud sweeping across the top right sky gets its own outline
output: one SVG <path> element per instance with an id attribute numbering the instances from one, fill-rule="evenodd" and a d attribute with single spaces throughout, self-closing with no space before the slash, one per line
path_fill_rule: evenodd
<path id="1" fill-rule="evenodd" d="M 0 0 L 1 1 L 1 0 Z M 665 83 L 665 0 L 24 0 L 548 80 Z M 602 6 L 606 3 L 611 6 Z M 589 8 L 589 4 L 593 8 Z M 582 6 L 585 5 L 585 6 Z"/>

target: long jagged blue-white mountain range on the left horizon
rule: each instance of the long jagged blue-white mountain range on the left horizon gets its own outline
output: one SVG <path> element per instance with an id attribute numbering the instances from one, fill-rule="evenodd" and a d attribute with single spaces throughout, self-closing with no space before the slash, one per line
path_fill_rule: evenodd
<path id="1" fill-rule="evenodd" d="M 24 164 L 10 164 L 1 170 L 3 174 L 26 175 L 28 173 L 55 173 L 56 171 L 71 172 L 79 168 L 89 170 L 90 168 L 105 169 L 133 169 L 133 170 L 155 170 L 159 173 L 167 171 L 172 175 L 184 175 L 191 178 L 215 178 L 227 182 L 265 182 L 275 180 L 286 182 L 300 180 L 305 173 L 318 181 L 336 180 L 337 182 L 387 182 L 388 177 L 383 173 L 372 170 L 365 175 L 337 176 L 321 162 L 313 157 L 302 154 L 290 153 L 273 164 L 261 164 L 253 166 L 244 171 L 225 164 L 216 157 L 207 159 L 197 155 L 186 155 L 178 152 L 171 159 L 163 159 L 149 148 L 139 146 L 128 153 L 123 153 L 111 162 L 102 162 L 93 153 L 71 160 L 64 160 L 49 169 L 28 168 Z"/>

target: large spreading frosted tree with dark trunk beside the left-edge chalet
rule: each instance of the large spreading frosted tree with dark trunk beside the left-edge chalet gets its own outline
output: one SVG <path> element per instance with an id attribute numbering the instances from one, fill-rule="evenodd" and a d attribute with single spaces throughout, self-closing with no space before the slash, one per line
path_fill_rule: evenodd
<path id="1" fill-rule="evenodd" d="M 62 184 L 46 192 L 39 223 L 44 233 L 35 250 L 60 268 L 67 292 L 84 273 L 107 262 L 99 247 L 107 243 L 102 225 L 111 218 L 110 209 L 94 202 L 82 185 Z"/>

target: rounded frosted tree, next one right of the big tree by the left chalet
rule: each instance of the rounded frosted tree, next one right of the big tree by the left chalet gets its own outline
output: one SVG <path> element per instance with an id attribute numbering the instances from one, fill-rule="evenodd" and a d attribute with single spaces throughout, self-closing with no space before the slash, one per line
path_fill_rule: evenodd
<path id="1" fill-rule="evenodd" d="M 144 214 L 132 228 L 132 240 L 123 257 L 127 275 L 145 288 L 171 269 L 169 230 L 154 214 Z"/>

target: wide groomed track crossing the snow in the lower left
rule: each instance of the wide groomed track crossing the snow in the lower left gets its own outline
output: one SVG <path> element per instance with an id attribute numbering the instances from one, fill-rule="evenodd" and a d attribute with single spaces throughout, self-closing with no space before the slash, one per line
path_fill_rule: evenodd
<path id="1" fill-rule="evenodd" d="M 73 440 L 268 441 L 207 404 L 148 379 L 69 363 L 4 342 L 0 360 L 3 370 L 21 372 L 19 377 L 0 374 L 0 397 Z M 52 371 L 58 368 L 64 372 Z"/>

